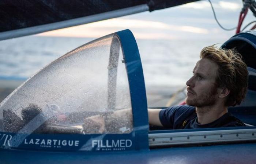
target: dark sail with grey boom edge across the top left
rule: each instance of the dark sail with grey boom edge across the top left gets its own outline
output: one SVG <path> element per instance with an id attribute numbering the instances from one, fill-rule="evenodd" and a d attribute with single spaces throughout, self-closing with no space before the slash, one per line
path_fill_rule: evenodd
<path id="1" fill-rule="evenodd" d="M 37 34 L 198 0 L 4 0 L 0 40 Z"/>

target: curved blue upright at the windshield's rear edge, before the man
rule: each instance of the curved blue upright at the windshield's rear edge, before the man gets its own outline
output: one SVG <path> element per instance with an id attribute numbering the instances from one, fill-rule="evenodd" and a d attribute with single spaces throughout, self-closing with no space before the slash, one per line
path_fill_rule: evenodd
<path id="1" fill-rule="evenodd" d="M 130 87 L 135 149 L 148 149 L 147 97 L 139 49 L 130 30 L 119 31 L 116 34 L 119 36 L 123 48 Z"/>

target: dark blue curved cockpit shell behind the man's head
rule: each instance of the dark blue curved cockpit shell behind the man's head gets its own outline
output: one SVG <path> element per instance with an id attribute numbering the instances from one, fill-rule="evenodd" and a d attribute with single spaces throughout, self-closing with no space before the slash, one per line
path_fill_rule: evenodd
<path id="1" fill-rule="evenodd" d="M 235 48 L 244 59 L 248 76 L 248 90 L 244 101 L 239 106 L 228 110 L 244 123 L 256 126 L 256 36 L 255 31 L 240 33 L 227 40 L 222 48 Z"/>

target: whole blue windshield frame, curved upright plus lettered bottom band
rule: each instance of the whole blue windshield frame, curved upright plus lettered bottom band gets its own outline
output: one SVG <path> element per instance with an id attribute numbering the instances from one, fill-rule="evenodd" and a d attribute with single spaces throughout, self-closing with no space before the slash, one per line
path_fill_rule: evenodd
<path id="1" fill-rule="evenodd" d="M 146 89 L 136 40 L 129 30 L 110 35 L 118 37 L 124 54 L 131 95 L 133 131 L 129 134 L 15 134 L 0 132 L 0 136 L 2 136 L 0 148 L 87 152 L 149 150 Z M 15 78 L 9 77 L 8 79 Z"/>

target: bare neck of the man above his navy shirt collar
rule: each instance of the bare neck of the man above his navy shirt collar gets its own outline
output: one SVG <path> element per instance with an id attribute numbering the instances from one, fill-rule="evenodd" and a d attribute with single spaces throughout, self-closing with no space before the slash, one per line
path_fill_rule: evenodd
<path id="1" fill-rule="evenodd" d="M 209 124 L 227 113 L 227 107 L 222 105 L 196 107 L 196 113 L 199 124 Z"/>

